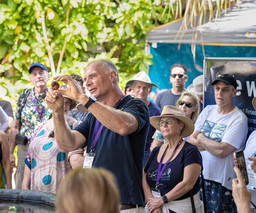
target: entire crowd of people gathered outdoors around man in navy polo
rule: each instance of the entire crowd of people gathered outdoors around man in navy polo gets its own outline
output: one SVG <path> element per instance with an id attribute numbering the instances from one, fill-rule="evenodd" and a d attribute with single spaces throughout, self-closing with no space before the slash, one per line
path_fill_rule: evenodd
<path id="1" fill-rule="evenodd" d="M 256 167 L 256 131 L 246 142 L 233 76 L 212 82 L 216 104 L 203 109 L 203 75 L 186 89 L 184 64 L 171 66 L 172 88 L 155 101 L 145 72 L 122 91 L 108 60 L 89 63 L 83 78 L 55 77 L 64 83 L 56 90 L 43 64 L 28 71 L 34 88 L 20 94 L 14 117 L 0 101 L 0 188 L 12 188 L 16 167 L 15 188 L 56 193 L 57 212 L 256 212 L 255 191 L 233 168 L 238 149 Z"/>

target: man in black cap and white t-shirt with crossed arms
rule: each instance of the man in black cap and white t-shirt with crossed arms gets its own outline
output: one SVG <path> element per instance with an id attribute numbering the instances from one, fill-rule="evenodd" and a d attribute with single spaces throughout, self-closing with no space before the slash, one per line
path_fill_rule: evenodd
<path id="1" fill-rule="evenodd" d="M 214 80 L 216 105 L 208 105 L 195 123 L 189 142 L 203 157 L 206 203 L 209 212 L 234 212 L 232 197 L 233 152 L 244 149 L 248 131 L 245 114 L 233 105 L 236 79 L 228 74 Z"/>

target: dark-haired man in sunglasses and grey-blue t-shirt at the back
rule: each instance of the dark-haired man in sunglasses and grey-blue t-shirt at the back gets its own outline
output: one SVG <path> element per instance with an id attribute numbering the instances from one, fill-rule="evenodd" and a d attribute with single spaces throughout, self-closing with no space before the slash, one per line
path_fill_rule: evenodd
<path id="1" fill-rule="evenodd" d="M 170 69 L 172 88 L 157 95 L 156 104 L 161 110 L 165 105 L 176 106 L 181 94 L 186 91 L 185 83 L 188 80 L 185 64 L 173 64 Z"/>

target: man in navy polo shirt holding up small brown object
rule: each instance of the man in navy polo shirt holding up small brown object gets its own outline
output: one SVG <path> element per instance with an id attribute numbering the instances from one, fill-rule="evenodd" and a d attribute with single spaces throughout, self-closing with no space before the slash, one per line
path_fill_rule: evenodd
<path id="1" fill-rule="evenodd" d="M 60 151 L 87 146 L 84 167 L 103 167 L 116 175 L 121 194 L 119 210 L 144 212 L 142 171 L 149 127 L 147 104 L 141 99 L 124 96 L 118 85 L 116 66 L 108 60 L 91 62 L 85 68 L 83 80 L 90 97 L 83 94 L 68 75 L 54 79 L 69 85 L 65 91 L 50 88 L 45 98 L 53 111 L 54 133 Z M 73 131 L 65 123 L 64 100 L 60 94 L 78 101 L 90 112 Z"/>

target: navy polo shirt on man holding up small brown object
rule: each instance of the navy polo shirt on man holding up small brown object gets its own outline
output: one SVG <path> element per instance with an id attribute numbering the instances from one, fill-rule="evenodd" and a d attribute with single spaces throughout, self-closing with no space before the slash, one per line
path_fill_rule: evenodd
<path id="1" fill-rule="evenodd" d="M 128 100 L 128 101 L 127 101 Z M 121 204 L 145 205 L 142 187 L 144 149 L 149 126 L 147 104 L 141 99 L 126 96 L 116 107 L 132 114 L 138 121 L 138 130 L 129 135 L 119 135 L 103 127 L 94 149 L 93 167 L 103 167 L 113 172 L 118 181 Z M 105 115 L 108 118 L 108 115 Z M 89 114 L 74 130 L 87 141 L 87 153 L 93 142 L 96 118 Z M 100 125 L 99 125 L 100 127 Z"/>

